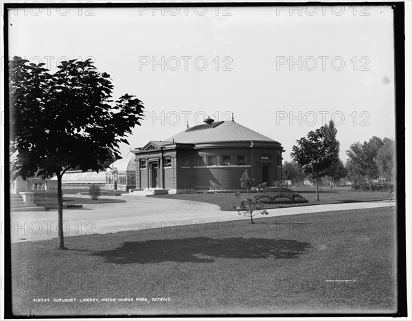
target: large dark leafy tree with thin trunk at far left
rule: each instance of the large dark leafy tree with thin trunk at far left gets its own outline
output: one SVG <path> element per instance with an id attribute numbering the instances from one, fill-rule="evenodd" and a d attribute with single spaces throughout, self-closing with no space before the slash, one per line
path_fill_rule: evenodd
<path id="1" fill-rule="evenodd" d="M 57 176 L 58 248 L 65 250 L 62 175 L 71 168 L 100 171 L 119 143 L 140 125 L 142 103 L 128 94 L 111 100 L 110 75 L 90 59 L 62 61 L 51 74 L 44 64 L 20 57 L 9 61 L 10 152 L 12 177 Z"/>

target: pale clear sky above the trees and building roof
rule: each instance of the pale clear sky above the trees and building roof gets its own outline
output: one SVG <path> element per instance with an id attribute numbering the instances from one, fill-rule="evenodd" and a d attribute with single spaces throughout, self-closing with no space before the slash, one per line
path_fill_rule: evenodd
<path id="1" fill-rule="evenodd" d="M 333 119 L 341 159 L 356 141 L 395 138 L 390 7 L 32 8 L 9 12 L 9 56 L 91 58 L 113 97 L 144 102 L 130 148 L 207 116 L 279 141 L 284 160 Z M 2 68 L 4 68 L 2 61 Z"/>

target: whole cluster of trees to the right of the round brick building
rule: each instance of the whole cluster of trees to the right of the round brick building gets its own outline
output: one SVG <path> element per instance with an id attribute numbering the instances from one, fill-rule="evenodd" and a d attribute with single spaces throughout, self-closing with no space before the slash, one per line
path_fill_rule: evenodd
<path id="1" fill-rule="evenodd" d="M 319 200 L 322 182 L 333 188 L 338 182 L 351 182 L 367 190 L 388 189 L 394 182 L 395 142 L 373 136 L 369 141 L 356 142 L 346 151 L 347 162 L 339 158 L 340 143 L 331 120 L 321 128 L 308 132 L 292 147 L 293 160 L 282 167 L 282 180 L 292 185 L 304 185 L 310 180 L 317 186 Z M 371 184 L 375 184 L 370 187 Z M 365 186 L 369 186 L 364 188 Z M 358 188 L 356 188 L 358 189 Z"/>

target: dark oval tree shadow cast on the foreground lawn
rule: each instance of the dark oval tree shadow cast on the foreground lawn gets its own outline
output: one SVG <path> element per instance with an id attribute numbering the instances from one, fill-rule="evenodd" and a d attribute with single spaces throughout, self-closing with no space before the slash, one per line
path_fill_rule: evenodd
<path id="1" fill-rule="evenodd" d="M 188 239 L 165 239 L 124 242 L 114 250 L 95 252 L 109 263 L 161 263 L 194 262 L 211 263 L 215 259 L 295 259 L 311 248 L 307 242 L 291 239 L 259 239 L 231 237 L 211 239 L 194 237 Z"/>

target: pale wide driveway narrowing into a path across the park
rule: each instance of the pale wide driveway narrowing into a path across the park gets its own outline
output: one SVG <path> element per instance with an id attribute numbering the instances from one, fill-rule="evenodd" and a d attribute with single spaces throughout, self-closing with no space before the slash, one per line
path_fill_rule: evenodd
<path id="1" fill-rule="evenodd" d="M 105 197 L 113 198 L 113 196 L 102 196 Z M 219 206 L 203 202 L 130 196 L 117 198 L 127 202 L 83 204 L 82 209 L 64 209 L 65 237 L 248 219 L 235 211 L 221 211 Z M 297 206 L 268 209 L 268 215 L 256 215 L 255 218 L 371 209 L 389 207 L 391 204 L 394 205 L 393 202 L 387 201 Z M 57 238 L 57 215 L 57 210 L 12 212 L 10 215 L 12 243 Z"/>

